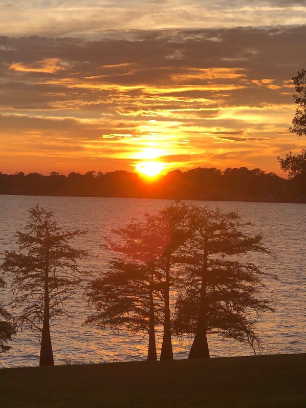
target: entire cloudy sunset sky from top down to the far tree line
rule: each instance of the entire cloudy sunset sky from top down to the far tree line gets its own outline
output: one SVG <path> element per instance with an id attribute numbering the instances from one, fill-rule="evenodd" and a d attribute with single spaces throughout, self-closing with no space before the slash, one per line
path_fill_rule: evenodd
<path id="1" fill-rule="evenodd" d="M 288 6 L 290 3 L 290 6 Z M 0 171 L 282 175 L 306 0 L 0 0 Z"/>

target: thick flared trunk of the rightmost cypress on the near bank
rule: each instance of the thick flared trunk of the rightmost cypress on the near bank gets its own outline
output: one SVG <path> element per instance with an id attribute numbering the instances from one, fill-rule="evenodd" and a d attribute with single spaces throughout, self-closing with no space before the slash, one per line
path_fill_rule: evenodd
<path id="1" fill-rule="evenodd" d="M 209 349 L 206 335 L 206 274 L 207 274 L 207 252 L 203 256 L 202 284 L 200 289 L 200 311 L 198 327 L 193 339 L 188 358 L 209 358 Z"/>

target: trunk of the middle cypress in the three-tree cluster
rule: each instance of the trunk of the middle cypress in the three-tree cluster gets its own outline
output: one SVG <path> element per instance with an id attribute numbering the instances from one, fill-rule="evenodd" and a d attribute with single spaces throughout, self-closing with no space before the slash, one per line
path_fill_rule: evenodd
<path id="1" fill-rule="evenodd" d="M 172 341 L 171 341 L 171 321 L 170 321 L 170 303 L 169 303 L 169 288 L 170 288 L 170 255 L 166 264 L 166 282 L 164 289 L 165 299 L 165 316 L 164 316 L 164 335 L 161 350 L 161 360 L 173 360 Z"/>

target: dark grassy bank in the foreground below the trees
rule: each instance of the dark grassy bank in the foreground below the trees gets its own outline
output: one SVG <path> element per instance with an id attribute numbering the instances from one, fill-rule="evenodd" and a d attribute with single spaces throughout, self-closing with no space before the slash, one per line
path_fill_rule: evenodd
<path id="1" fill-rule="evenodd" d="M 302 408 L 306 354 L 0 370 L 2 408 Z"/>

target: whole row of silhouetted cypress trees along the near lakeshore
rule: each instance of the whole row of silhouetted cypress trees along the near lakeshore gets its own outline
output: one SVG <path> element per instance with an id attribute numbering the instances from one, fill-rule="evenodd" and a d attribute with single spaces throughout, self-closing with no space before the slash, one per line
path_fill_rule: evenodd
<path id="1" fill-rule="evenodd" d="M 89 253 L 70 245 L 85 231 L 63 231 L 38 205 L 28 212 L 25 230 L 16 234 L 19 249 L 7 250 L 1 265 L 11 277 L 14 317 L 2 306 L 0 351 L 8 351 L 16 329 L 30 329 L 40 339 L 39 364 L 53 365 L 50 327 L 67 314 L 64 303 L 76 290 L 94 311 L 85 325 L 147 335 L 148 360 L 158 358 L 157 327 L 161 360 L 173 358 L 172 337 L 182 335 L 193 338 L 189 358 L 210 356 L 211 333 L 261 350 L 256 321 L 273 311 L 261 293 L 263 277 L 276 276 L 246 256 L 271 252 L 236 212 L 176 202 L 131 220 L 104 237 L 113 257 L 94 275 L 78 265 Z"/>

